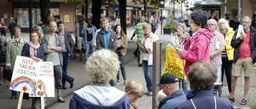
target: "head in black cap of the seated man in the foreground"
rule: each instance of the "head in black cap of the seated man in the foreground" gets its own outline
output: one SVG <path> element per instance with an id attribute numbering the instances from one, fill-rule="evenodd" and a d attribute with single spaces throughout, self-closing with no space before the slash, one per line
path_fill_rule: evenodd
<path id="1" fill-rule="evenodd" d="M 166 95 L 170 95 L 179 89 L 178 78 L 172 73 L 163 74 L 158 85 L 160 85 L 160 88 Z"/>

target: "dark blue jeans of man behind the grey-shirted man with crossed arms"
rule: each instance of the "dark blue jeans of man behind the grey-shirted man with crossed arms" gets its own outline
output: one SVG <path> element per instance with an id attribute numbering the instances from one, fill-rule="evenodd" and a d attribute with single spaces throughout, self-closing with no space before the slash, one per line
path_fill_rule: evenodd
<path id="1" fill-rule="evenodd" d="M 62 87 L 65 86 L 66 81 L 71 83 L 73 81 L 73 78 L 67 75 L 67 67 L 70 62 L 70 56 L 69 53 L 62 53 L 63 56 L 63 65 L 62 65 Z"/>

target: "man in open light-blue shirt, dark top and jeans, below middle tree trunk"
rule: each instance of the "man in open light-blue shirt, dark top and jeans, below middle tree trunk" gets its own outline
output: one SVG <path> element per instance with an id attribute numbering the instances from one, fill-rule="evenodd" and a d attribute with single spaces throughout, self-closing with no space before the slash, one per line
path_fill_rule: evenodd
<path id="1" fill-rule="evenodd" d="M 92 42 L 94 34 L 96 33 L 96 30 L 97 30 L 95 25 L 91 24 L 90 18 L 87 19 L 87 23 L 88 23 L 88 25 L 86 25 L 82 29 L 82 34 L 85 35 L 84 37 L 85 37 L 85 43 L 86 43 L 85 63 L 88 60 L 90 49 L 91 49 L 92 53 L 94 53 L 94 45 L 92 45 L 91 42 Z"/>

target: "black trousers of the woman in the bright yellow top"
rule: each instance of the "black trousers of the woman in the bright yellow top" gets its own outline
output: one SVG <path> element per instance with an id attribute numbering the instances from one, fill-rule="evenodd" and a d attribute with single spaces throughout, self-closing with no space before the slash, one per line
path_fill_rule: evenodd
<path id="1" fill-rule="evenodd" d="M 231 80 L 232 80 L 232 60 L 228 60 L 226 58 L 222 58 L 222 83 L 223 83 L 223 76 L 224 72 L 226 75 L 226 82 L 229 89 L 229 92 L 231 92 Z"/>

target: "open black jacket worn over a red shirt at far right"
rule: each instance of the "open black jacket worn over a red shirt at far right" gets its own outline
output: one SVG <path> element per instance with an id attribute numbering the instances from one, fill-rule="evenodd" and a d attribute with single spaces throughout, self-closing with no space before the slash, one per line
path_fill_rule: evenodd
<path id="1" fill-rule="evenodd" d="M 240 38 L 236 38 L 238 31 L 236 30 L 234 36 L 231 41 L 231 46 L 234 48 L 234 63 L 238 60 L 240 45 L 242 40 Z M 250 53 L 251 57 L 253 57 L 253 63 L 255 63 L 256 58 L 256 30 L 254 27 L 250 26 Z"/>

